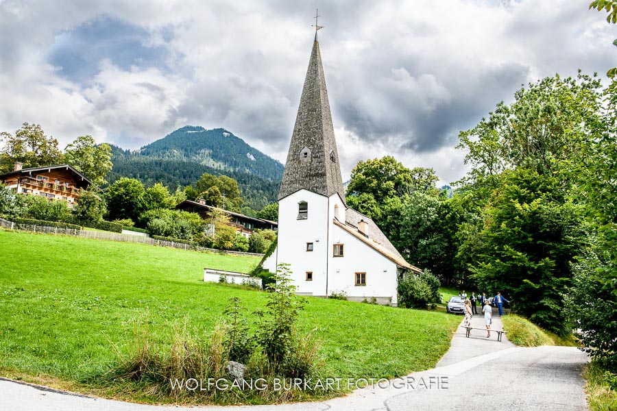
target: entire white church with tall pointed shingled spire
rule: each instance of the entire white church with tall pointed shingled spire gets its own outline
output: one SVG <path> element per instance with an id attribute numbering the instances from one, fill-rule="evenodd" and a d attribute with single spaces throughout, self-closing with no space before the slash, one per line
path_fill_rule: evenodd
<path id="1" fill-rule="evenodd" d="M 346 205 L 317 32 L 278 194 L 278 245 L 263 267 L 274 273 L 281 263 L 299 295 L 392 306 L 400 275 L 421 272 Z"/>

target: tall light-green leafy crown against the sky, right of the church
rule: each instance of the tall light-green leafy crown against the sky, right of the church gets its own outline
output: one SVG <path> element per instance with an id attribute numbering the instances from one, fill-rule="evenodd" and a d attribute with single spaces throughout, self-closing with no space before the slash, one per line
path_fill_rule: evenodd
<path id="1" fill-rule="evenodd" d="M 494 177 L 524 167 L 540 175 L 564 173 L 577 142 L 599 121 L 601 83 L 579 73 L 576 79 L 546 77 L 521 88 L 511 105 L 500 102 L 488 119 L 459 134 L 472 171 L 464 182 L 494 188 Z M 567 173 L 562 177 L 568 178 Z"/>

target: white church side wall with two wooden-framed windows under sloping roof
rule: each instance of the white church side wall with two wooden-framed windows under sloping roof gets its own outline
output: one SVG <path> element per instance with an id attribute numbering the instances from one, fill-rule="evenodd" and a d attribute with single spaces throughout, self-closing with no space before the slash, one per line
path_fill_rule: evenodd
<path id="1" fill-rule="evenodd" d="M 333 257 L 335 244 L 343 244 L 343 257 Z M 396 264 L 341 227 L 331 225 L 328 292 L 344 291 L 355 301 L 380 297 L 378 302 L 397 303 Z M 355 273 L 366 273 L 366 285 L 356 286 Z"/>

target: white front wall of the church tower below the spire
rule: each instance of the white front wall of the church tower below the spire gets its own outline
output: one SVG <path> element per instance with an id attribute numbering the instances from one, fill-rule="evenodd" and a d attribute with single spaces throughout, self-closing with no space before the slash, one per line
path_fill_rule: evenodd
<path id="1" fill-rule="evenodd" d="M 308 203 L 307 219 L 298 219 L 298 203 Z M 306 251 L 306 243 L 313 251 Z M 328 197 L 300 190 L 278 202 L 278 246 L 276 264 L 291 264 L 296 292 L 324 296 L 328 259 Z M 270 270 L 271 271 L 271 270 Z M 276 271 L 276 269 L 275 269 Z M 313 273 L 311 281 L 306 273 Z"/>

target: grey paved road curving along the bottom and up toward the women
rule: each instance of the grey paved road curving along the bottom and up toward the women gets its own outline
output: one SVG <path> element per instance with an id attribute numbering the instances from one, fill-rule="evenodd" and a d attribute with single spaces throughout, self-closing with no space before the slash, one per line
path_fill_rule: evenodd
<path id="1" fill-rule="evenodd" d="M 472 320 L 483 327 L 481 316 Z M 494 317 L 494 329 L 502 329 Z M 255 407 L 145 406 L 108 399 L 78 397 L 0 380 L 0 410 L 11 411 L 360 411 L 360 410 L 587 410 L 581 371 L 587 356 L 572 347 L 514 347 L 496 333 L 486 338 L 474 330 L 470 338 L 459 327 L 452 346 L 437 367 L 409 376 L 407 388 L 356 390 L 347 397 L 320 403 Z M 399 380 L 401 384 L 404 381 Z M 422 382 L 426 388 L 419 388 Z M 444 382 L 446 385 L 444 386 Z M 447 388 L 446 388 L 447 387 Z"/>

